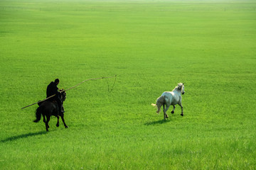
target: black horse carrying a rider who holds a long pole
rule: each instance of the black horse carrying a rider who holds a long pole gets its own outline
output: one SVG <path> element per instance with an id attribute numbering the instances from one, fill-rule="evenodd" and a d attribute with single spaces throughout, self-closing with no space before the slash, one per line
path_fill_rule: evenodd
<path id="1" fill-rule="evenodd" d="M 60 91 L 60 99 L 63 105 L 65 101 L 66 93 L 65 91 Z M 35 123 L 38 123 L 41 120 L 41 115 L 43 115 L 43 122 L 46 123 L 46 131 L 48 131 L 50 116 L 54 115 L 58 118 L 56 126 L 59 127 L 59 116 L 63 120 L 65 128 L 68 128 L 68 125 L 65 124 L 64 113 L 60 113 L 58 111 L 58 103 L 57 101 L 43 101 L 42 103 L 38 103 L 39 107 L 36 109 L 36 120 Z M 45 118 L 46 117 L 46 118 Z"/>

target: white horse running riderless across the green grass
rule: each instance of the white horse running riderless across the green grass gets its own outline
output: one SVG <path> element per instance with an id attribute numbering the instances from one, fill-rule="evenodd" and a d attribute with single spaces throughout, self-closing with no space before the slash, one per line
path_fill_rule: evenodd
<path id="1" fill-rule="evenodd" d="M 181 115 L 183 116 L 181 94 L 185 94 L 184 89 L 185 89 L 184 84 L 179 83 L 178 86 L 176 86 L 173 91 L 165 91 L 159 98 L 156 99 L 156 104 L 154 103 L 151 104 L 152 106 L 157 106 L 158 109 L 156 113 L 159 113 L 161 111 L 161 106 L 163 106 L 164 119 L 169 118 L 168 115 L 166 114 L 166 111 L 168 111 L 171 105 L 174 106 L 174 110 L 175 110 L 175 105 L 178 104 L 179 106 L 181 106 Z M 174 113 L 174 110 L 171 111 L 171 113 Z"/>

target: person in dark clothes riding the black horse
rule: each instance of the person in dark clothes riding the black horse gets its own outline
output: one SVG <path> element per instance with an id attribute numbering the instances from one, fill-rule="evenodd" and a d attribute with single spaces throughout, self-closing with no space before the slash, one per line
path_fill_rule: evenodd
<path id="1" fill-rule="evenodd" d="M 53 96 L 55 94 L 55 96 L 53 96 L 52 98 L 49 98 L 48 101 L 57 101 L 58 103 L 58 113 L 59 115 L 61 113 L 64 113 L 64 108 L 63 108 L 63 104 L 62 101 L 60 99 L 60 92 L 58 91 L 58 84 L 59 84 L 60 80 L 59 79 L 55 79 L 55 81 L 51 81 L 50 84 L 47 86 L 47 90 L 46 90 L 46 97 L 50 97 Z"/>

